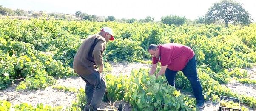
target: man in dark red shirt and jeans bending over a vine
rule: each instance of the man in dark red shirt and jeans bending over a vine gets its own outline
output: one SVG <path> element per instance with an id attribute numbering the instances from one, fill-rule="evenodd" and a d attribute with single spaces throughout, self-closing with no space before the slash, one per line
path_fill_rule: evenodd
<path id="1" fill-rule="evenodd" d="M 175 87 L 175 76 L 178 71 L 182 71 L 190 81 L 197 107 L 199 109 L 205 107 L 202 85 L 197 76 L 196 57 L 190 47 L 177 43 L 151 44 L 148 47 L 148 52 L 152 56 L 152 66 L 149 75 L 153 75 L 156 72 L 157 63 L 161 62 L 161 69 L 156 74 L 156 77 L 165 74 L 168 83 Z"/>

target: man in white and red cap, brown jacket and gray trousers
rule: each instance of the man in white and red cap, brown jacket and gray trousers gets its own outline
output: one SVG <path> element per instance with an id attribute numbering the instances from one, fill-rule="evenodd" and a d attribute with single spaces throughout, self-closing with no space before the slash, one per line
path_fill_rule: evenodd
<path id="1" fill-rule="evenodd" d="M 74 72 L 86 82 L 87 105 L 85 111 L 88 111 L 89 105 L 93 109 L 99 108 L 105 94 L 106 81 L 100 73 L 104 68 L 102 54 L 109 40 L 114 40 L 113 31 L 109 27 L 103 27 L 98 34 L 90 35 L 83 41 L 74 57 Z M 99 67 L 98 70 L 96 66 Z"/>

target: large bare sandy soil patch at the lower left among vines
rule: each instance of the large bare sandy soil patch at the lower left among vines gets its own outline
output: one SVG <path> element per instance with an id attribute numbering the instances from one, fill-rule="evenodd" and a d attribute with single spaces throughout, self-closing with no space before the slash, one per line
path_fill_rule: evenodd
<path id="1" fill-rule="evenodd" d="M 65 109 L 67 106 L 71 106 L 71 101 L 76 99 L 76 95 L 72 92 L 58 91 L 57 89 L 46 87 L 44 90 L 36 91 L 16 91 L 17 84 L 13 87 L 0 92 L 0 100 L 7 100 L 11 98 L 12 105 L 20 103 L 29 103 L 32 106 L 37 106 L 37 103 L 48 104 L 51 106 L 63 106 Z"/>

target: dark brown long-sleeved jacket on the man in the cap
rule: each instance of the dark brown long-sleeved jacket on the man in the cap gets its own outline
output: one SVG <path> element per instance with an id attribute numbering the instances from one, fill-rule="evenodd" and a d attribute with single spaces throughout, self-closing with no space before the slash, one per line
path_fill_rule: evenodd
<path id="1" fill-rule="evenodd" d="M 106 40 L 99 34 L 91 35 L 83 41 L 74 57 L 74 72 L 79 75 L 88 75 L 96 71 L 96 67 L 103 65 L 103 51 Z"/>

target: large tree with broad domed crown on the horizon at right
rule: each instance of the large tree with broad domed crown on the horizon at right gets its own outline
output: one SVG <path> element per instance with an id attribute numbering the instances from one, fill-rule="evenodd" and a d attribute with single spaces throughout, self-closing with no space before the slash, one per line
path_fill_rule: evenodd
<path id="1" fill-rule="evenodd" d="M 214 3 L 205 14 L 205 22 L 208 24 L 214 22 L 224 22 L 225 27 L 228 23 L 247 25 L 252 22 L 250 14 L 242 8 L 240 3 L 233 0 L 222 0 Z"/>

